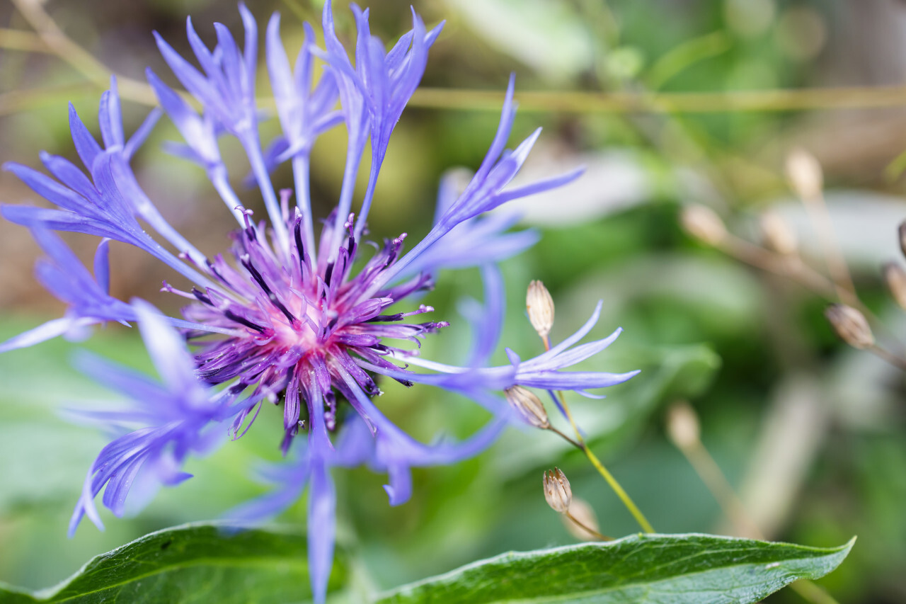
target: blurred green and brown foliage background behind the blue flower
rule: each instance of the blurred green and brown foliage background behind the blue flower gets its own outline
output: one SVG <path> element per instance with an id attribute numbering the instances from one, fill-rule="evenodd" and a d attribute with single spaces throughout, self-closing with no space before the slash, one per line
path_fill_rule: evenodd
<path id="1" fill-rule="evenodd" d="M 411 26 L 409 4 L 373 5 L 372 32 L 395 41 Z M 418 240 L 427 232 L 441 174 L 455 166 L 475 169 L 496 128 L 499 100 L 469 91 L 502 93 L 515 72 L 523 111 L 511 142 L 545 127 L 523 177 L 577 164 L 587 172 L 569 188 L 526 200 L 520 208 L 523 227 L 543 237 L 504 263 L 504 344 L 524 358 L 541 350 L 525 318 L 531 279 L 544 280 L 554 296 L 554 340 L 582 325 L 603 299 L 593 335 L 605 336 L 616 326 L 625 332 L 585 366 L 641 369 L 641 375 L 610 389 L 604 400 L 572 404 L 593 449 L 658 531 L 740 529 L 668 438 L 666 410 L 686 400 L 699 415 L 702 442 L 739 493 L 750 523 L 770 539 L 814 546 L 840 545 L 858 535 L 849 559 L 822 585 L 841 602 L 906 601 L 901 370 L 834 336 L 823 316 L 833 299 L 700 243 L 679 220 L 689 204 L 704 204 L 736 236 L 760 245 L 759 217 L 770 209 L 795 234 L 796 253 L 826 272 L 820 229 L 785 176 L 787 153 L 810 151 L 824 167 L 826 207 L 839 249 L 877 318 L 879 341 L 901 353 L 906 321 L 884 285 L 881 266 L 903 261 L 897 226 L 906 218 L 906 3 L 414 4 L 429 25 L 447 19 L 423 85 L 462 92 L 441 94 L 444 107 L 429 106 L 436 95 L 417 97 L 404 112 L 377 189 L 372 235 L 406 231 Z M 249 3 L 262 35 L 272 11 L 284 15 L 291 55 L 301 44 L 303 20 L 320 22 L 320 6 L 306 0 Z M 100 83 L 108 77 L 101 66 L 135 80 L 143 80 L 151 66 L 174 83 L 151 31 L 188 53 L 186 15 L 208 44 L 214 44 L 213 21 L 240 35 L 231 0 L 0 3 L 0 161 L 37 167 L 42 150 L 74 159 L 65 103 L 72 102 L 97 132 Z M 343 2 L 337 2 L 335 16 L 351 39 L 352 15 Z M 85 54 L 63 53 L 66 61 L 54 54 L 48 45 L 59 42 L 54 24 Z M 258 90 L 269 94 L 264 69 Z M 575 94 L 581 92 L 609 95 Z M 126 132 L 148 111 L 141 102 L 124 102 Z M 265 141 L 275 128 L 275 121 L 262 124 Z M 232 219 L 202 170 L 160 151 L 168 140 L 178 140 L 178 133 L 164 118 L 133 162 L 140 182 L 198 248 L 207 254 L 225 250 Z M 241 150 L 225 138 L 223 152 L 238 186 L 247 170 Z M 315 146 L 317 215 L 333 207 L 344 154 L 342 129 Z M 275 183 L 292 186 L 291 175 L 280 170 Z M 241 196 L 258 207 L 255 191 Z M 0 173 L 0 200 L 43 203 L 8 172 Z M 86 260 L 97 244 L 87 237 L 67 240 Z M 112 247 L 114 295 L 177 310 L 173 297 L 158 291 L 161 279 L 172 278 L 169 271 L 135 249 Z M 0 339 L 63 312 L 34 280 L 38 249 L 25 229 L 0 221 L 0 255 Z M 426 356 L 457 362 L 465 354 L 468 326 L 456 305 L 466 296 L 482 297 L 476 273 L 441 274 L 425 303 L 452 326 L 429 337 Z M 91 427 L 67 422 L 61 412 L 113 396 L 72 370 L 72 354 L 82 348 L 149 368 L 137 334 L 120 326 L 98 330 L 84 343 L 54 340 L 0 356 L 0 580 L 8 583 L 47 587 L 92 555 L 148 531 L 217 518 L 263 492 L 249 478 L 256 460 L 279 457 L 282 412 L 269 408 L 241 441 L 191 461 L 187 469 L 196 478 L 162 490 L 130 519 L 104 516 L 110 520 L 106 532 L 84 523 L 67 540 L 84 474 L 105 440 Z M 502 351 L 499 360 L 506 362 Z M 487 419 L 477 405 L 451 395 L 418 386 L 381 387 L 387 392 L 382 408 L 424 441 L 438 432 L 465 436 Z M 602 532 L 637 530 L 581 454 L 553 434 L 511 430 L 473 461 L 417 470 L 412 501 L 399 508 L 387 505 L 380 475 L 335 472 L 340 541 L 361 556 L 378 588 L 506 550 L 575 542 L 542 494 L 541 472 L 554 465 L 569 476 L 573 493 L 592 506 Z M 303 523 L 304 502 L 284 521 Z M 802 600 L 785 590 L 770 601 Z"/>

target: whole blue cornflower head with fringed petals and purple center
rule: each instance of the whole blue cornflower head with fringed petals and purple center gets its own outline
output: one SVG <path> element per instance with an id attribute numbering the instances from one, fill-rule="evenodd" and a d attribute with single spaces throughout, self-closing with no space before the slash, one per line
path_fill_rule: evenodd
<path id="1" fill-rule="evenodd" d="M 385 50 L 371 35 L 368 10 L 353 5 L 358 35 L 351 58 L 334 32 L 333 7 L 327 2 L 322 24 L 326 48 L 316 46 L 313 28 L 306 24 L 304 43 L 291 66 L 280 40 L 279 16 L 273 15 L 265 34 L 266 65 L 282 134 L 265 152 L 258 135 L 263 111 L 255 101 L 257 25 L 244 5 L 239 11 L 245 28 L 241 50 L 221 24 L 215 24 L 217 45 L 209 49 L 188 21 L 188 40 L 200 69 L 157 36 L 166 62 L 198 101 L 200 112 L 148 73 L 162 112 L 184 139 L 170 151 L 205 170 L 236 219 L 228 254 L 207 258 L 169 225 L 142 190 L 130 161 L 160 110 L 127 139 L 114 81 L 101 97 L 100 143 L 70 108 L 82 167 L 46 153 L 42 161 L 53 177 L 19 164 L 6 166 L 56 206 L 5 206 L 3 214 L 32 229 L 48 256 L 38 266 L 38 277 L 69 310 L 65 317 L 0 345 L 0 352 L 106 321 L 137 322 L 158 369 L 159 382 L 97 359 L 82 360 L 83 370 L 128 395 L 132 407 L 92 414 L 121 435 L 92 465 L 71 531 L 85 515 L 101 526 L 94 499 L 102 490 L 103 504 L 120 514 L 137 480 L 185 480 L 188 474 L 181 466 L 189 454 L 206 453 L 222 440 L 219 435 L 238 438 L 265 402 L 282 403 L 281 447 L 287 459 L 264 473 L 275 489 L 231 516 L 273 516 L 297 501 L 307 486 L 313 592 L 316 601 L 323 601 L 333 560 L 333 468 L 364 463 L 386 472 L 390 504 L 398 505 L 412 491 L 410 468 L 474 455 L 507 423 L 519 421 L 502 396 L 506 388 L 584 394 L 619 384 L 634 372 L 568 371 L 619 334 L 579 344 L 598 320 L 600 306 L 585 326 L 544 354 L 524 360 L 507 349 L 508 364 L 488 364 L 498 346 L 505 306 L 496 262 L 534 244 L 537 234 L 505 232 L 516 221 L 512 215 L 483 214 L 559 187 L 580 173 L 510 186 L 540 133 L 513 151 L 505 149 L 516 114 L 512 78 L 485 160 L 465 186 L 450 179 L 441 183 L 435 223 L 425 239 L 407 251 L 403 233 L 384 239 L 372 252 L 362 244 L 371 243 L 363 238 L 375 183 L 390 134 L 419 85 L 441 25 L 429 30 L 413 13 L 411 31 Z M 316 61 L 323 63 L 320 77 Z M 317 137 L 341 122 L 349 135 L 346 172 L 337 207 L 315 239 L 309 158 Z M 236 197 L 218 149 L 218 137 L 224 135 L 236 137 L 246 151 L 266 219 L 256 219 Z M 371 170 L 357 215 L 352 197 L 367 141 Z M 282 161 L 292 162 L 294 190 L 277 193 L 268 172 Z M 93 275 L 54 230 L 102 238 Z M 145 250 L 191 283 L 178 289 L 165 282 L 162 290 L 188 299 L 182 317 L 164 317 L 146 303 L 110 296 L 111 239 Z M 418 356 L 420 340 L 448 322 L 425 320 L 422 316 L 434 309 L 412 298 L 430 290 L 441 270 L 466 267 L 479 267 L 485 284 L 484 303 L 463 306 L 475 330 L 471 354 L 462 365 Z M 494 418 L 463 442 L 419 443 L 381 412 L 377 376 L 458 393 L 486 407 Z M 341 413 L 346 405 L 353 413 Z"/>

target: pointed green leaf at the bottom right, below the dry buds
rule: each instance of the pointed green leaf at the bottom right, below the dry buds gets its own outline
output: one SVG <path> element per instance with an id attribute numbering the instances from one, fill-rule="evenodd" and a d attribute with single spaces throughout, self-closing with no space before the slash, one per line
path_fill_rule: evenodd
<path id="1" fill-rule="evenodd" d="M 742 604 L 795 580 L 824 576 L 853 541 L 820 549 L 700 534 L 632 535 L 506 553 L 395 589 L 379 603 Z"/>

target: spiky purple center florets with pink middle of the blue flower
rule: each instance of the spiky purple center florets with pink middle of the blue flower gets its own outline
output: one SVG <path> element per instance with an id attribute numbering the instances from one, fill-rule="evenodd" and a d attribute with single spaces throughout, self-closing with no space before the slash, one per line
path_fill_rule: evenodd
<path id="1" fill-rule="evenodd" d="M 285 201 L 290 191 L 282 192 L 287 218 Z M 448 323 L 402 322 L 433 310 L 425 305 L 412 312 L 381 314 L 410 294 L 432 288 L 428 275 L 420 274 L 370 294 L 376 279 L 399 258 L 405 233 L 385 240 L 383 248 L 361 272 L 351 276 L 358 250 L 352 214 L 343 225 L 346 237 L 342 240 L 333 241 L 333 229 L 323 229 L 320 252 L 313 260 L 303 244 L 303 217 L 296 209 L 294 217 L 286 220 L 293 237 L 290 258 L 284 262 L 263 235 L 265 224 L 255 226 L 252 212 L 242 211 L 246 214 L 246 228 L 232 233 L 231 253 L 236 267 L 221 255 L 207 263 L 206 272 L 215 279 L 217 287 L 206 287 L 204 291 L 193 287 L 190 293 L 167 283 L 164 288 L 195 300 L 183 308 L 189 321 L 223 327 L 236 334 L 217 336 L 211 341 L 207 340 L 212 336 L 210 332 L 187 332 L 198 346 L 195 358 L 202 379 L 215 385 L 236 380 L 236 392 L 255 386 L 253 398 L 274 403 L 285 391 L 285 452 L 292 437 L 306 428 L 305 419 L 301 419 L 302 401 L 310 427 L 333 431 L 337 409 L 334 390 L 353 406 L 358 405 L 346 386 L 350 379 L 366 394 L 380 394 L 371 375 L 361 369 L 352 355 L 373 365 L 398 369 L 383 357 L 404 351 L 385 344 L 385 339 L 418 342 L 422 334 Z M 333 223 L 333 217 L 327 223 Z M 330 260 L 331 257 L 335 259 Z M 403 379 L 398 381 L 411 385 Z M 236 417 L 234 434 L 238 434 L 250 411 Z M 357 411 L 366 416 L 361 409 Z"/>

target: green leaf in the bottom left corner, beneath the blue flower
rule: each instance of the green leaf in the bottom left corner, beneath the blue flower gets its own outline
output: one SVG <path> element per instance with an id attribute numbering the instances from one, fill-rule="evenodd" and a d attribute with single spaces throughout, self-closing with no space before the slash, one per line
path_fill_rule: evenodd
<path id="1" fill-rule="evenodd" d="M 347 582 L 342 554 L 329 590 Z M 29 593 L 0 584 L 0 604 L 67 602 L 308 602 L 304 534 L 249 529 L 231 534 L 217 524 L 185 524 L 152 532 L 89 561 L 55 588 Z"/>

